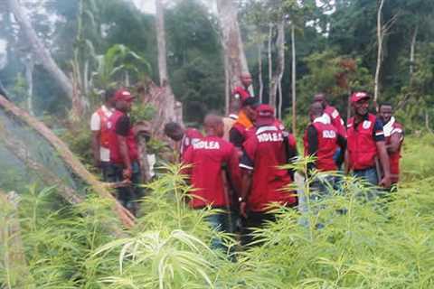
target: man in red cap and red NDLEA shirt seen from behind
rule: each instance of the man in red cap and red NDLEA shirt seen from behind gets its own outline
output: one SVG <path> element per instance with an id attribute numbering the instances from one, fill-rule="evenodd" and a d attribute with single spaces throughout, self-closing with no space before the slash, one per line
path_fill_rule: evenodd
<path id="1" fill-rule="evenodd" d="M 251 229 L 261 228 L 267 220 L 274 220 L 269 214 L 270 205 L 278 203 L 289 207 L 297 205 L 294 191 L 284 191 L 293 180 L 288 170 L 280 166 L 288 163 L 288 151 L 297 151 L 293 137 L 285 147 L 284 132 L 276 126 L 274 110 L 268 105 L 257 109 L 256 130 L 243 144 L 244 154 L 240 167 L 243 174 L 241 191 L 241 214 L 246 218 L 243 243 L 251 242 Z"/>

